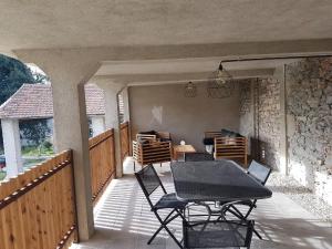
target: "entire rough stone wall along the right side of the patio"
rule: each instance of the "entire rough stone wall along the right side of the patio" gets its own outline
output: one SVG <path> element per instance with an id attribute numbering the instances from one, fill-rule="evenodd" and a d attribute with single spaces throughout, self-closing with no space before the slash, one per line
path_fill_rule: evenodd
<path id="1" fill-rule="evenodd" d="M 332 59 L 301 60 L 284 69 L 251 89 L 240 85 L 240 132 L 253 134 L 256 158 L 276 169 L 286 162 L 286 144 L 287 173 L 332 205 Z M 253 128 L 246 126 L 250 116 Z"/>

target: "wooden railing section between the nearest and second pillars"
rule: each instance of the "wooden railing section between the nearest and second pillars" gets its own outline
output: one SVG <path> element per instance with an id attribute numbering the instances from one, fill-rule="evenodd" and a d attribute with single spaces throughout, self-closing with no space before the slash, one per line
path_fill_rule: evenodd
<path id="1" fill-rule="evenodd" d="M 92 200 L 96 204 L 105 187 L 115 176 L 114 131 L 108 129 L 90 138 Z"/>

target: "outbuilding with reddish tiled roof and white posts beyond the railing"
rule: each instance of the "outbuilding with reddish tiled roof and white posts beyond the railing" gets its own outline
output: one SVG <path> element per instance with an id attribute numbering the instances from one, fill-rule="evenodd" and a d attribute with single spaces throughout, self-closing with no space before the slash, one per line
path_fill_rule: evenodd
<path id="1" fill-rule="evenodd" d="M 95 84 L 85 85 L 86 115 L 93 136 L 105 129 L 104 91 Z M 53 97 L 51 84 L 23 84 L 0 106 L 0 120 L 3 134 L 6 160 L 22 168 L 21 145 L 30 144 L 21 136 L 19 122 L 22 120 L 48 120 L 53 134 Z M 21 138 L 22 137 L 22 138 Z M 11 173 L 10 170 L 14 172 Z M 8 175 L 14 175 L 15 168 L 8 167 Z"/>

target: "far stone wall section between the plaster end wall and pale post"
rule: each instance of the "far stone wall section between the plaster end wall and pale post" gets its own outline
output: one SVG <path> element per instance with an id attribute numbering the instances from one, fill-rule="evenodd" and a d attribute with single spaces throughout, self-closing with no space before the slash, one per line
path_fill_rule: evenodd
<path id="1" fill-rule="evenodd" d="M 279 167 L 280 82 L 249 80 L 240 84 L 240 133 L 251 142 L 252 158 Z"/>

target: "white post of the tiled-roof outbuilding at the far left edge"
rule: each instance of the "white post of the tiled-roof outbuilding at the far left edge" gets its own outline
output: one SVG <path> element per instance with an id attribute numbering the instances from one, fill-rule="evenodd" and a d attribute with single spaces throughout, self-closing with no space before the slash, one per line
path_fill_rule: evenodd
<path id="1" fill-rule="evenodd" d="M 7 178 L 12 178 L 23 172 L 19 121 L 10 118 L 1 120 L 1 127 Z"/>

